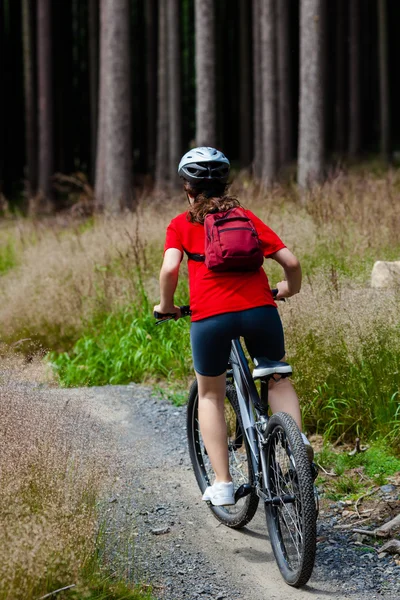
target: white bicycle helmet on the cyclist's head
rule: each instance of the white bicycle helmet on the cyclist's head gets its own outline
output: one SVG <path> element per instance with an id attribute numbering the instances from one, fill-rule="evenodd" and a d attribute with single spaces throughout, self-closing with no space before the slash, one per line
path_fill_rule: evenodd
<path id="1" fill-rule="evenodd" d="M 178 175 L 193 184 L 226 183 L 230 162 L 225 154 L 208 146 L 199 146 L 181 158 Z"/>

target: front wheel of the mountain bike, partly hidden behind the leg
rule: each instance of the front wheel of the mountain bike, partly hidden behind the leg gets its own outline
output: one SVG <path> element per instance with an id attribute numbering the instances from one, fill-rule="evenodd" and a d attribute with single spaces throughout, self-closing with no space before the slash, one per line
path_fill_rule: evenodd
<path id="1" fill-rule="evenodd" d="M 229 469 L 236 491 L 244 483 L 253 484 L 254 473 L 250 459 L 250 448 L 247 438 L 243 434 L 236 390 L 231 384 L 226 386 L 225 420 L 228 428 Z M 192 384 L 189 392 L 187 436 L 194 474 L 203 493 L 207 486 L 212 485 L 214 471 L 200 433 L 196 381 Z M 251 492 L 248 496 L 238 500 L 233 506 L 213 506 L 211 503 L 208 503 L 208 505 L 216 519 L 221 523 L 234 529 L 240 529 L 254 517 L 258 500 L 255 492 Z"/>

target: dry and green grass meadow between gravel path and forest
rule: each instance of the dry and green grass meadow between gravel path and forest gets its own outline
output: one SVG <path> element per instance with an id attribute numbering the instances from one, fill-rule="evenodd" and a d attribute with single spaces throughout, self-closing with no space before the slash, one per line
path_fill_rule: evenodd
<path id="1" fill-rule="evenodd" d="M 327 429 L 333 437 L 346 430 L 400 431 L 399 304 L 390 291 L 369 289 L 374 261 L 400 255 L 400 174 L 341 173 L 314 188 L 303 203 L 290 185 L 266 192 L 245 177 L 236 180 L 232 192 L 302 264 L 302 294 L 281 312 L 307 426 Z M 57 351 L 69 351 L 80 338 L 59 363 L 65 382 L 75 385 L 85 383 L 89 371 L 91 383 L 129 381 L 139 376 L 136 355 L 149 377 L 165 376 L 146 355 L 148 350 L 153 357 L 155 343 L 149 306 L 158 299 L 166 225 L 185 207 L 183 194 L 149 196 L 136 214 L 114 220 L 9 226 L 8 235 L 14 228 L 23 248 L 18 266 L 0 279 L 0 337 L 25 352 L 30 342 L 20 341 L 24 338 Z M 266 270 L 272 284 L 281 279 L 273 261 L 266 262 Z M 129 326 L 133 319 L 140 321 L 135 331 Z M 165 333 L 165 360 L 158 356 L 164 367 L 180 343 L 175 330 Z M 187 364 L 182 368 L 187 371 Z M 173 366 L 168 369 L 173 373 Z M 360 420 L 360 413 L 367 417 Z"/>

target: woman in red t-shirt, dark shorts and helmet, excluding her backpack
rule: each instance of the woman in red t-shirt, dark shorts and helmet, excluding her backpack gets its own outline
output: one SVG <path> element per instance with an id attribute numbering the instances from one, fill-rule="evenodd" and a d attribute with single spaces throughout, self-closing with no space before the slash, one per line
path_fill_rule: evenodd
<path id="1" fill-rule="evenodd" d="M 178 173 L 184 180 L 189 208 L 172 219 L 167 228 L 164 261 L 160 272 L 158 313 L 180 317 L 174 304 L 179 267 L 188 255 L 189 291 L 193 363 L 199 393 L 201 435 L 215 472 L 214 484 L 203 500 L 215 506 L 234 504 L 234 487 L 229 473 L 227 428 L 224 418 L 226 368 L 231 340 L 243 337 L 252 358 L 267 357 L 280 361 L 285 357 L 282 323 L 262 267 L 225 271 L 208 268 L 204 262 L 207 215 L 239 208 L 239 218 L 256 230 L 265 258 L 272 258 L 283 268 L 285 280 L 277 284 L 276 300 L 289 298 L 300 291 L 301 267 L 297 258 L 280 238 L 239 201 L 227 195 L 230 163 L 215 148 L 199 147 L 181 159 Z M 235 211 L 234 211 L 235 212 Z M 242 216 L 240 216 L 242 215 Z M 233 227 L 246 229 L 245 227 Z M 237 235 L 237 232 L 235 234 Z M 246 233 L 243 231 L 243 235 Z M 237 239 L 237 238 L 235 238 Z M 269 404 L 273 413 L 285 411 L 301 431 L 299 400 L 288 379 L 270 380 Z M 312 448 L 302 434 L 310 461 Z"/>

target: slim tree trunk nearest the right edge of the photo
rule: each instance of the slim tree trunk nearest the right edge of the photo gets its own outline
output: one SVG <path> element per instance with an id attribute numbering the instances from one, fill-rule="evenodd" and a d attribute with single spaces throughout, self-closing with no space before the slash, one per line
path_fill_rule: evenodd
<path id="1" fill-rule="evenodd" d="M 378 56 L 380 103 L 380 152 L 384 161 L 390 159 L 390 96 L 388 69 L 388 27 L 386 0 L 378 0 Z"/>

